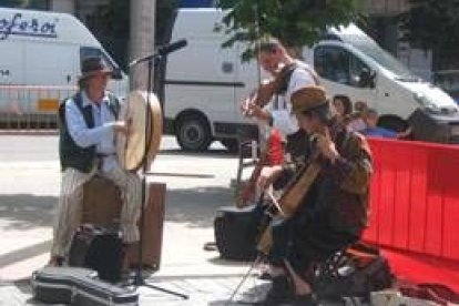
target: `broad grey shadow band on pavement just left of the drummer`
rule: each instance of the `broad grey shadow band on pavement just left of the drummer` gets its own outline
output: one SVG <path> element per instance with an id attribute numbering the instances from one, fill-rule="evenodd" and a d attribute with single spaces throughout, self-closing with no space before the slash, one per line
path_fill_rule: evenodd
<path id="1" fill-rule="evenodd" d="M 51 226 L 55 203 L 58 203 L 55 196 L 0 195 L 0 216 L 9 222 L 3 230 Z"/>

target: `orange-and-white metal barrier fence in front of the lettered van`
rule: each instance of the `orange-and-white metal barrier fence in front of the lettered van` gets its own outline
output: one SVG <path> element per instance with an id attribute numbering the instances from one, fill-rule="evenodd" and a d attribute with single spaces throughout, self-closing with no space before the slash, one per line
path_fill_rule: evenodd
<path id="1" fill-rule="evenodd" d="M 0 130 L 55 130 L 60 101 L 75 91 L 76 86 L 0 85 Z"/>

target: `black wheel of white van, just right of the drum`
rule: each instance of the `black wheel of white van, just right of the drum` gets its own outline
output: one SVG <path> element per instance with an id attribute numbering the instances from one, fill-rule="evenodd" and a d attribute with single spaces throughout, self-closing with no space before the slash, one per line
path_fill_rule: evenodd
<path id="1" fill-rule="evenodd" d="M 187 115 L 178 121 L 176 137 L 180 146 L 185 151 L 202 152 L 208 149 L 212 142 L 211 129 L 207 121 L 198 115 Z"/>

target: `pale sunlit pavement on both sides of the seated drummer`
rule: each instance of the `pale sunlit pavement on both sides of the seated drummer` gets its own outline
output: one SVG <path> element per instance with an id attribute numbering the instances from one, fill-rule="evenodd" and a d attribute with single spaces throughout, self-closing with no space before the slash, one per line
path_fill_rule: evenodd
<path id="1" fill-rule="evenodd" d="M 59 164 L 55 155 L 44 161 L 9 157 L 0 156 L 0 306 L 40 305 L 32 299 L 29 277 L 49 257 Z M 147 280 L 190 299 L 140 287 L 140 305 L 231 305 L 227 300 L 249 264 L 222 261 L 217 252 L 206 252 L 203 246 L 214 241 L 216 210 L 232 205 L 230 183 L 236 167 L 236 157 L 227 154 L 182 155 L 172 150 L 159 155 L 155 172 L 205 174 L 149 178 L 165 182 L 167 194 L 162 263 Z M 236 299 L 259 299 L 266 285 L 251 276 Z"/>

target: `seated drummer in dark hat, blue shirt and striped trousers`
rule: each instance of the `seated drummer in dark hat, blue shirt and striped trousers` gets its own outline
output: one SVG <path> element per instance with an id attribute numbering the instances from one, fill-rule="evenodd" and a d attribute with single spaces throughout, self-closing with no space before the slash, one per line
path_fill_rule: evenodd
<path id="1" fill-rule="evenodd" d="M 136 218 L 141 207 L 141 180 L 120 166 L 115 133 L 129 133 L 118 120 L 119 100 L 108 92 L 112 71 L 100 58 L 82 62 L 79 92 L 59 108 L 59 154 L 62 169 L 61 194 L 53 225 L 50 265 L 61 265 L 82 215 L 83 184 L 95 174 L 116 184 L 124 200 L 121 231 L 125 243 L 139 241 Z"/>

